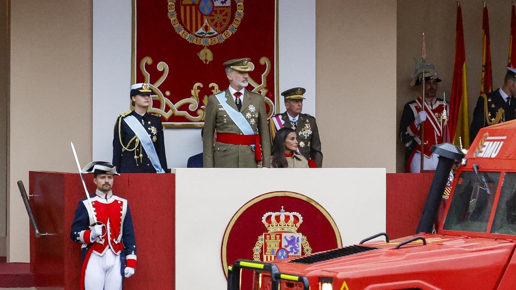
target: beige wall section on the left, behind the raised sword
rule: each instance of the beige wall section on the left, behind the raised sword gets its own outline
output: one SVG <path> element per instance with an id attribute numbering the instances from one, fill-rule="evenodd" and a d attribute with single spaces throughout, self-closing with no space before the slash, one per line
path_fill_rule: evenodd
<path id="1" fill-rule="evenodd" d="M 70 141 L 91 160 L 91 63 L 91 0 L 12 1 L 9 262 L 29 260 L 16 182 L 28 188 L 29 170 L 75 172 Z"/>

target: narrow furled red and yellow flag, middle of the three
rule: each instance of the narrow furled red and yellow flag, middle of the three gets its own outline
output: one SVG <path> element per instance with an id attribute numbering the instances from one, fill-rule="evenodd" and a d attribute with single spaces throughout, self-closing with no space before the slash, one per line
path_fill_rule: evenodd
<path id="1" fill-rule="evenodd" d="M 513 6 L 514 7 L 514 6 Z M 489 37 L 489 12 L 484 2 L 482 12 L 482 79 L 480 94 L 493 90 L 493 73 L 491 68 L 491 41 Z"/>

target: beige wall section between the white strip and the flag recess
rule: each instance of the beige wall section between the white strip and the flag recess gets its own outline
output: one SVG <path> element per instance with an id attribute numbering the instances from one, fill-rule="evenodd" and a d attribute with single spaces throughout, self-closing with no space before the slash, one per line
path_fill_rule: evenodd
<path id="1" fill-rule="evenodd" d="M 396 1 L 316 3 L 325 167 L 396 169 Z"/>

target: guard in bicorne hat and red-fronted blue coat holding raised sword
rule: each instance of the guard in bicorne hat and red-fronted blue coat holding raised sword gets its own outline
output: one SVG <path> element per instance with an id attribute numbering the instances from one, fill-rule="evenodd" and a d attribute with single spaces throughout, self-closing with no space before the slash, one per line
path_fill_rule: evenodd
<path id="1" fill-rule="evenodd" d="M 109 162 L 91 162 L 82 170 L 93 173 L 96 191 L 90 199 L 79 201 L 70 237 L 82 244 L 80 288 L 120 290 L 123 277 L 136 269 L 136 240 L 133 218 L 127 200 L 111 191 L 115 166 Z M 91 202 L 91 204 L 90 204 Z"/>

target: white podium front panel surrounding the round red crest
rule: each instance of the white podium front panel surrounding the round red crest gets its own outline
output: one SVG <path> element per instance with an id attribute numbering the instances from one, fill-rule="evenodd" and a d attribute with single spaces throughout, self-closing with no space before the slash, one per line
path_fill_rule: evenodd
<path id="1" fill-rule="evenodd" d="M 205 289 L 206 281 L 210 289 L 225 289 L 224 231 L 241 206 L 267 192 L 294 191 L 314 199 L 335 220 L 343 245 L 385 231 L 385 168 L 188 168 L 175 173 L 176 289 Z M 228 182 L 228 176 L 238 178 Z M 278 176 L 308 182 L 285 183 Z M 199 271 L 203 279 L 197 279 Z"/>

